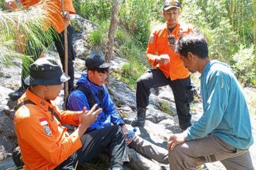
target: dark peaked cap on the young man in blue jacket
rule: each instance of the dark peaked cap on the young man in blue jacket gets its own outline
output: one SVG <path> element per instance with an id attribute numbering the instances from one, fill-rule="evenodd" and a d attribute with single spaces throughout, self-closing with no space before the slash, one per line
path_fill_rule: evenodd
<path id="1" fill-rule="evenodd" d="M 109 68 L 112 64 L 105 62 L 103 57 L 100 55 L 90 55 L 85 59 L 85 66 L 87 67 L 87 70 L 92 69 L 106 69 Z"/>

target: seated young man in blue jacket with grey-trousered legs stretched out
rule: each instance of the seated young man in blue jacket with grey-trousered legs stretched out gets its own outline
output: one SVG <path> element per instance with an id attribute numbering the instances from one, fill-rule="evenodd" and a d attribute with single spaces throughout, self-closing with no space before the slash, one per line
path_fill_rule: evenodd
<path id="1" fill-rule="evenodd" d="M 104 85 L 111 63 L 105 62 L 103 57 L 99 55 L 88 56 L 85 62 L 87 74 L 81 75 L 75 89 L 68 96 L 68 109 L 81 111 L 83 107 L 91 108 L 94 104 L 98 104 L 98 108 L 102 108 L 103 111 L 99 113 L 98 119 L 87 128 L 86 133 L 111 127 L 112 123 L 121 127 L 123 133 L 127 134 L 126 125 L 115 110 L 111 96 Z M 129 157 L 130 166 L 133 169 L 161 169 L 159 165 L 149 159 L 156 160 L 162 164 L 169 164 L 168 151 L 166 149 L 153 145 L 138 136 L 132 139 L 126 138 L 126 142 L 131 148 L 129 149 Z"/>

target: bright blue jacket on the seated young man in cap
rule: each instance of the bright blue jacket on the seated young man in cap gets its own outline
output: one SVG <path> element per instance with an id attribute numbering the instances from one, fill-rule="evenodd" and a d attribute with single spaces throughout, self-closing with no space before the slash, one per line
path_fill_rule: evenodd
<path id="1" fill-rule="evenodd" d="M 87 74 L 82 74 L 80 79 L 77 81 L 76 85 L 84 85 L 87 89 L 91 89 L 93 96 L 95 97 L 95 101 L 99 104 L 99 99 L 95 95 L 99 92 L 100 89 L 103 88 L 103 100 L 102 100 L 102 107 L 103 111 L 99 113 L 98 119 L 88 127 L 87 130 L 99 130 L 103 127 L 109 127 L 111 123 L 115 125 L 124 124 L 124 121 L 118 115 L 118 112 L 114 108 L 113 101 L 111 100 L 111 96 L 107 91 L 105 85 L 99 86 L 93 84 L 91 81 L 88 80 Z M 74 90 L 70 96 L 68 97 L 68 108 L 71 111 L 81 111 L 83 107 L 86 107 L 88 110 L 91 109 L 88 102 L 87 96 L 84 95 L 83 92 L 80 90 Z M 99 107 L 98 107 L 99 108 Z"/>

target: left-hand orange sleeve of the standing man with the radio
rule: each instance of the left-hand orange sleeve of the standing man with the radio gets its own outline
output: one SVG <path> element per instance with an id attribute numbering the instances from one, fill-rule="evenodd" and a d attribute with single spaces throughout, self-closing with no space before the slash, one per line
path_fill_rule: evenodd
<path id="1" fill-rule="evenodd" d="M 153 55 L 156 55 L 156 51 L 157 51 L 157 32 L 154 30 L 149 37 L 148 47 L 147 47 L 147 50 L 145 51 L 145 56 L 148 59 L 151 66 L 157 66 L 157 63 L 153 58 Z"/>

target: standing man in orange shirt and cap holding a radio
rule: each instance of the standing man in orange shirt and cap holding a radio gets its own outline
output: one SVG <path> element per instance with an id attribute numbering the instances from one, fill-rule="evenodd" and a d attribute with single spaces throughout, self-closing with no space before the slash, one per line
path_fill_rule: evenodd
<path id="1" fill-rule="evenodd" d="M 163 7 L 165 24 L 157 25 L 150 35 L 146 58 L 151 66 L 157 67 L 147 71 L 137 81 L 136 102 L 137 119 L 134 126 L 144 126 L 145 108 L 149 105 L 151 88 L 170 85 L 176 103 L 176 112 L 182 130 L 191 126 L 189 103 L 193 95 L 188 70 L 184 67 L 180 55 L 175 52 L 175 41 L 183 34 L 192 31 L 188 25 L 178 21 L 180 16 L 180 2 L 166 0 Z"/>

